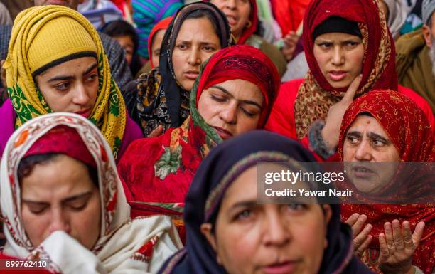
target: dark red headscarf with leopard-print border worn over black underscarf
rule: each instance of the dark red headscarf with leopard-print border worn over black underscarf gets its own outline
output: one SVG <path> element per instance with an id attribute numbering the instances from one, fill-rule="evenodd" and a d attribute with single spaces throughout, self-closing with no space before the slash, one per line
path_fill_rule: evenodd
<path id="1" fill-rule="evenodd" d="M 377 0 L 313 0 L 304 18 L 304 51 L 310 70 L 295 103 L 296 133 L 301 139 L 316 120 L 325 120 L 329 108 L 340 101 L 347 88 L 334 89 L 318 67 L 313 53 L 313 31 L 331 16 L 358 23 L 363 36 L 363 80 L 357 95 L 369 90 L 397 90 L 394 40 Z"/>

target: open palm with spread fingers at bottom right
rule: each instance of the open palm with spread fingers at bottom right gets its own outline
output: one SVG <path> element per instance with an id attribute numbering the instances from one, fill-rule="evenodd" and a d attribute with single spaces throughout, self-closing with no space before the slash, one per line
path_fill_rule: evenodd
<path id="1" fill-rule="evenodd" d="M 384 224 L 385 234 L 379 234 L 380 259 L 379 268 L 384 274 L 412 274 L 414 251 L 423 236 L 424 222 L 417 223 L 411 233 L 409 222 L 404 221 L 402 227 L 398 220 Z"/>

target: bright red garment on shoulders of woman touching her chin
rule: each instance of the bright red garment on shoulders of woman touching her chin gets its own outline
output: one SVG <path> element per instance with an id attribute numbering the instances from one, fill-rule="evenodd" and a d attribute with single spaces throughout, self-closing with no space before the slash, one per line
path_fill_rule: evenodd
<path id="1" fill-rule="evenodd" d="M 304 79 L 296 79 L 281 85 L 278 98 L 276 98 L 269 120 L 267 120 L 265 127 L 266 130 L 297 139 L 296 125 L 294 122 L 294 102 L 298 95 L 299 86 L 303 82 Z M 429 120 L 432 130 L 435 132 L 435 117 L 429 103 L 413 90 L 404 88 L 402 85 L 399 85 L 399 93 L 407 95 L 407 97 L 413 100 L 420 107 Z M 306 142 L 308 142 L 308 140 L 306 140 Z"/>

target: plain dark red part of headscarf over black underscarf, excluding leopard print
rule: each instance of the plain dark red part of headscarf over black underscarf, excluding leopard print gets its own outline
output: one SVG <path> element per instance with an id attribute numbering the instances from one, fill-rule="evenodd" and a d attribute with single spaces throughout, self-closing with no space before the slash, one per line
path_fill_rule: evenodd
<path id="1" fill-rule="evenodd" d="M 377 68 L 376 64 L 377 56 L 381 54 L 381 18 L 378 12 L 379 8 L 375 4 L 376 0 L 354 0 L 354 1 L 336 1 L 336 0 L 314 0 L 306 9 L 304 18 L 304 32 L 302 39 L 304 43 L 304 51 L 308 66 L 316 78 L 317 83 L 324 90 L 331 90 L 334 93 L 335 90 L 329 85 L 326 78 L 321 73 L 321 69 L 318 67 L 316 58 L 313 53 L 314 39 L 313 31 L 320 23 L 325 21 L 331 16 L 340 16 L 350 21 L 362 23 L 367 27 L 367 33 L 362 31 L 363 36 L 367 35 L 367 46 L 365 45 L 366 52 L 363 61 L 363 80 L 361 81 L 360 88 L 362 88 L 367 82 L 369 82 L 370 74 L 373 68 Z M 370 90 L 376 89 L 390 89 L 397 90 L 397 73 L 395 67 L 396 51 L 394 47 L 394 39 L 391 33 L 390 36 L 390 52 L 391 57 L 387 60 L 387 66 L 379 75 L 375 85 Z M 379 68 L 377 68 L 379 69 Z M 358 90 L 360 90 L 358 88 Z M 347 88 L 340 88 L 337 92 L 345 92 Z"/>

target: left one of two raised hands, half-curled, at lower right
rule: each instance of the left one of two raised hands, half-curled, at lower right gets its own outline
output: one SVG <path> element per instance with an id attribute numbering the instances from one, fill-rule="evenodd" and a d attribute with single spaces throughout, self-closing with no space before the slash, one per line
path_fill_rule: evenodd
<path id="1" fill-rule="evenodd" d="M 364 251 L 367 249 L 373 238 L 370 235 L 370 231 L 372 231 L 373 226 L 370 223 L 365 225 L 365 221 L 367 221 L 367 216 L 364 214 L 360 215 L 358 213 L 352 214 L 345 221 L 345 223 L 352 228 L 353 253 L 355 253 L 355 255 L 357 255 L 359 258 L 363 257 Z"/>

